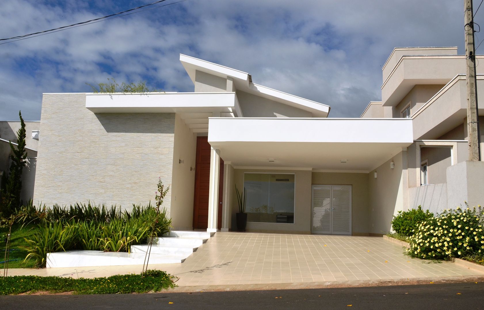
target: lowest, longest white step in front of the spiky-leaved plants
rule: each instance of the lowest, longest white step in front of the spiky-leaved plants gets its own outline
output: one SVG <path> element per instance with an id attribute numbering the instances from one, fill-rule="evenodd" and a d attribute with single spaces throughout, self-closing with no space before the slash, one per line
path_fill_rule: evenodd
<path id="1" fill-rule="evenodd" d="M 190 254 L 153 254 L 150 265 L 182 263 Z M 47 254 L 47 268 L 143 265 L 144 253 L 74 250 Z"/>

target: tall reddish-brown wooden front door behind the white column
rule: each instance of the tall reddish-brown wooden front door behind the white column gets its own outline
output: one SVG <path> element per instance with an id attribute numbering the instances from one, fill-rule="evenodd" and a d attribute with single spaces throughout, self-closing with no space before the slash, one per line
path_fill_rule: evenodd
<path id="1" fill-rule="evenodd" d="M 209 220 L 210 189 L 210 144 L 207 137 L 197 137 L 197 155 L 195 163 L 195 195 L 193 203 L 193 228 L 207 229 Z M 220 181 L 218 195 L 217 228 L 222 227 L 224 161 L 220 159 Z"/>

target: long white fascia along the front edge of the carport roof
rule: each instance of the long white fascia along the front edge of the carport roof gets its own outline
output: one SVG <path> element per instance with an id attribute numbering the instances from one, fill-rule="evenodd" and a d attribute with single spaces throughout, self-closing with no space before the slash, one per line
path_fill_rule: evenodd
<path id="1" fill-rule="evenodd" d="M 413 143 L 407 118 L 209 118 L 209 142 Z"/>

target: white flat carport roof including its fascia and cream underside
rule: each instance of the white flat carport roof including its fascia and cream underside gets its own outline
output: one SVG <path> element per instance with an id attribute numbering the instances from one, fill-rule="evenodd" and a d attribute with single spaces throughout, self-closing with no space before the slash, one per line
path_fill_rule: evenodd
<path id="1" fill-rule="evenodd" d="M 208 141 L 236 167 L 367 172 L 412 144 L 413 132 L 400 118 L 209 118 Z"/>

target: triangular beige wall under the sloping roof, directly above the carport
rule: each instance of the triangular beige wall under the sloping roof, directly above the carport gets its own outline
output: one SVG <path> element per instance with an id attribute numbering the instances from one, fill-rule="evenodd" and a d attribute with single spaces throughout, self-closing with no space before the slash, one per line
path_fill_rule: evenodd
<path id="1" fill-rule="evenodd" d="M 244 117 L 313 117 L 311 112 L 240 90 L 236 94 Z"/>

